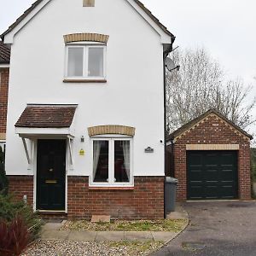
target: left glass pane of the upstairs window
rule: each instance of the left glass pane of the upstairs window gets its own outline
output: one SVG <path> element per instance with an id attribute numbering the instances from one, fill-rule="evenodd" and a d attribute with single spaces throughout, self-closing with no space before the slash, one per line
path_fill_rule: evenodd
<path id="1" fill-rule="evenodd" d="M 68 77 L 83 76 L 84 48 L 68 48 Z"/>

